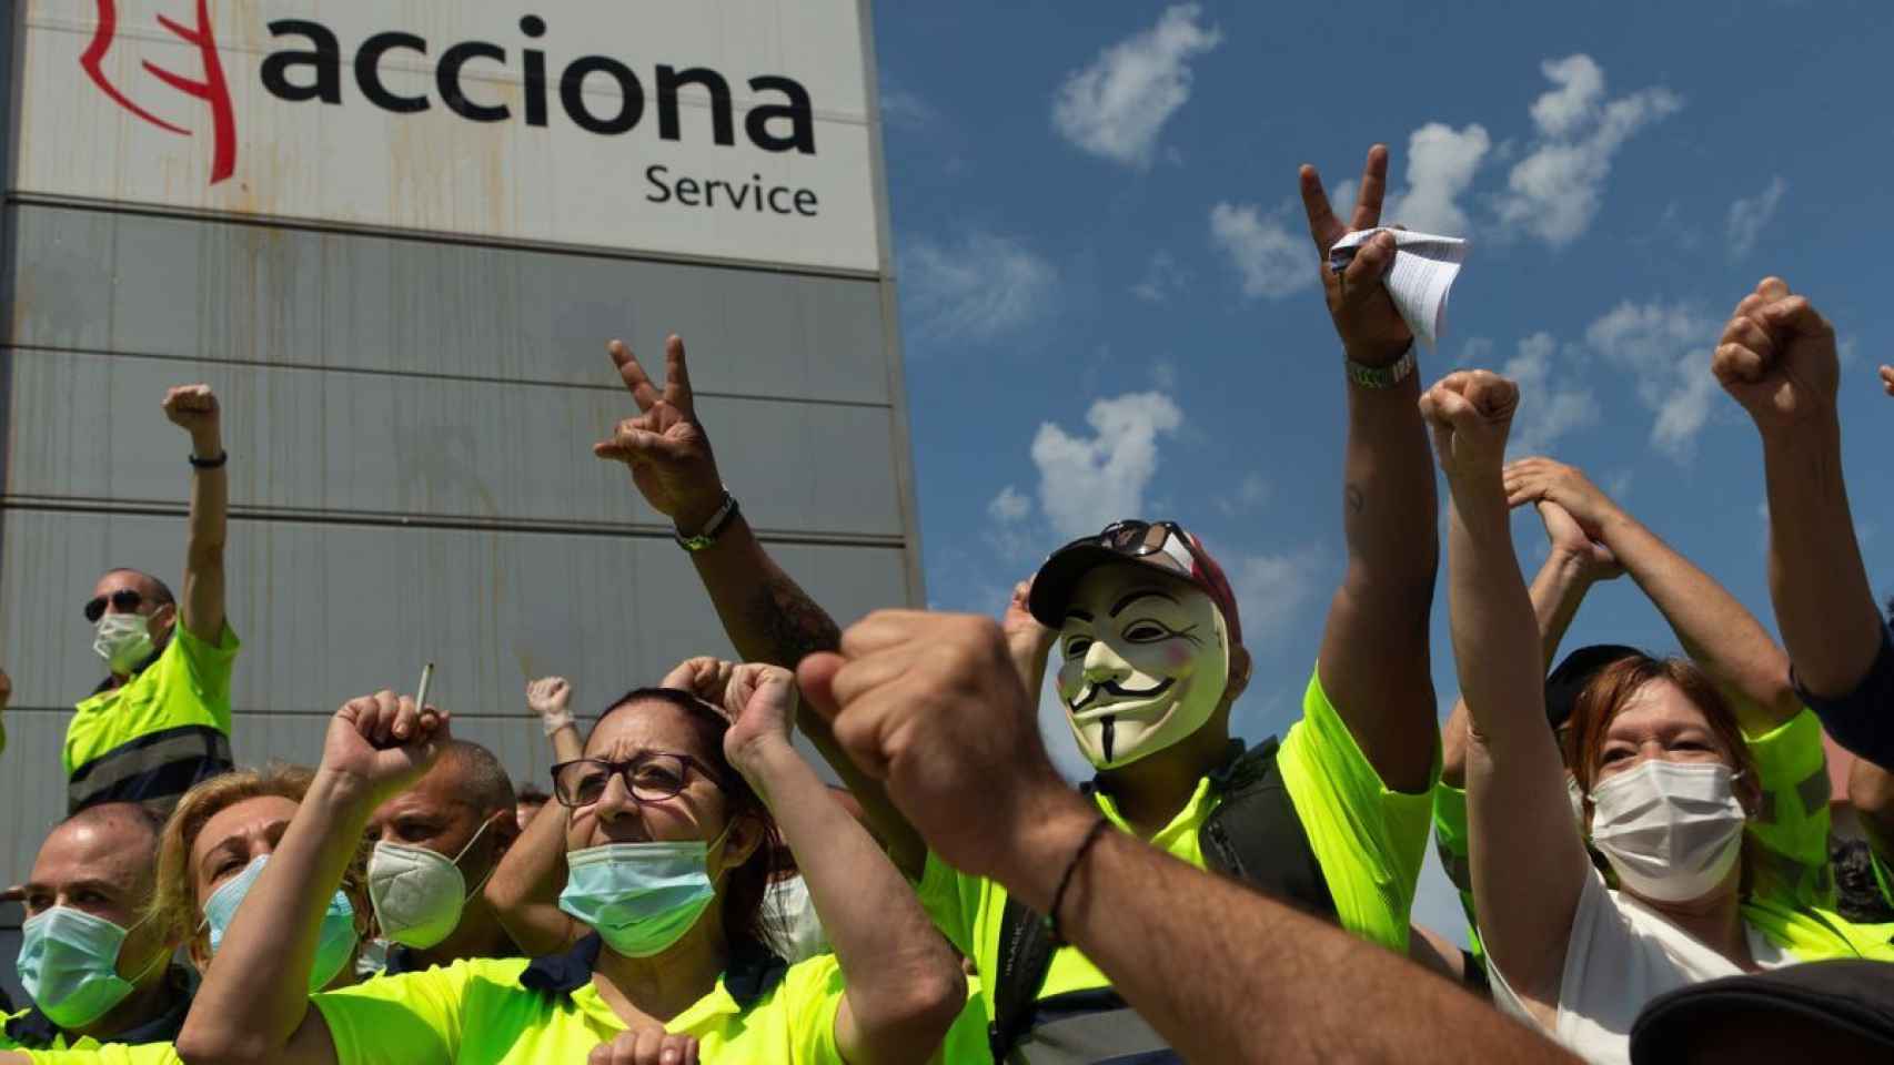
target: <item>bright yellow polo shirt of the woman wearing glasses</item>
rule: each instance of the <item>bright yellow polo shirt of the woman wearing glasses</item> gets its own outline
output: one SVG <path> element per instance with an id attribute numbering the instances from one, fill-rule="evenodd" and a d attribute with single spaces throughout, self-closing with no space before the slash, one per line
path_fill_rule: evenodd
<path id="1" fill-rule="evenodd" d="M 311 1003 L 330 1025 L 337 1065 L 585 1061 L 625 1031 L 589 982 L 589 963 L 570 989 L 528 987 L 521 982 L 528 965 L 521 957 L 456 961 L 326 991 Z M 748 1004 L 737 1003 L 725 978 L 665 1031 L 697 1037 L 703 1059 L 720 1065 L 845 1065 L 835 1048 L 843 997 L 835 955 L 790 967 Z"/>

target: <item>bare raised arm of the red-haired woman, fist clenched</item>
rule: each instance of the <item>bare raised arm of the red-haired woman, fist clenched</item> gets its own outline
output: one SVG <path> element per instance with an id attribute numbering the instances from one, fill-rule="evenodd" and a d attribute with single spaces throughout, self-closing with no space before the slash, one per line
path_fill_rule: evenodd
<path id="1" fill-rule="evenodd" d="M 1466 812 L 1481 942 L 1511 987 L 1559 999 L 1572 914 L 1591 874 L 1546 728 L 1546 668 L 1519 577 L 1500 467 L 1519 390 L 1455 373 L 1420 399 L 1453 492 L 1447 594 L 1453 656 L 1472 715 Z"/>

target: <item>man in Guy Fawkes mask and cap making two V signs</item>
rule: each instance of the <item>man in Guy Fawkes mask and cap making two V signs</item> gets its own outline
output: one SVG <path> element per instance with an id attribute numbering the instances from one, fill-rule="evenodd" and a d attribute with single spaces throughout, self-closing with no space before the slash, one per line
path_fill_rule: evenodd
<path id="1" fill-rule="evenodd" d="M 1379 225 L 1386 170 L 1386 148 L 1375 146 L 1347 223 L 1330 208 L 1314 168 L 1301 170 L 1318 259 L 1313 269 L 1345 356 L 1349 566 L 1297 728 L 1278 749 L 1265 743 L 1256 757 L 1237 757 L 1229 706 L 1248 683 L 1248 653 L 1235 596 L 1201 545 L 1174 524 L 1125 522 L 1055 554 L 1030 603 L 1015 594 L 1006 634 L 1027 690 L 1038 690 L 1053 643 L 1063 647 L 1061 692 L 1080 747 L 1100 768 L 1093 787 L 1100 825 L 1127 829 L 1199 866 L 1246 864 L 1239 874 L 1252 883 L 1405 950 L 1439 751 L 1428 660 L 1439 558 L 1434 469 L 1417 407 L 1413 335 L 1383 286 L 1394 240 L 1381 235 L 1366 242 L 1341 272 L 1322 265 L 1343 235 Z M 667 344 L 663 392 L 621 344 L 614 342 L 612 359 L 640 416 L 593 450 L 625 462 L 646 501 L 672 518 L 739 655 L 795 666 L 814 651 L 867 653 L 845 645 L 835 622 L 769 558 L 724 490 L 693 410 L 682 342 Z M 1089 562 L 1072 567 L 1080 556 Z M 1057 581 L 1047 579 L 1053 571 Z M 1106 573 L 1117 573 L 1114 581 L 1125 586 L 1085 586 Z M 1074 605 L 1087 617 L 1074 617 Z M 1116 626 L 1110 639 L 1102 626 Z M 1140 1046 L 1167 1054 L 1085 957 L 1053 950 L 1032 921 L 1010 912 L 992 882 L 956 874 L 930 855 L 881 785 L 841 751 L 826 721 L 805 713 L 799 725 L 862 800 L 896 866 L 920 882 L 949 938 L 979 965 L 1002 1056 L 1078 1063 Z M 1212 825 L 1225 791 L 1239 789 L 1265 798 Z M 1256 825 L 1263 829 L 1252 830 Z M 1205 834 L 1224 834 L 1222 846 L 1205 846 Z M 1275 842 L 1286 846 L 1271 853 Z M 1210 851 L 1224 855 L 1210 859 Z M 1019 972 L 1044 980 L 1021 980 Z M 1044 1008 L 1049 999 L 1063 999 L 1053 1003 L 1059 1010 Z"/>

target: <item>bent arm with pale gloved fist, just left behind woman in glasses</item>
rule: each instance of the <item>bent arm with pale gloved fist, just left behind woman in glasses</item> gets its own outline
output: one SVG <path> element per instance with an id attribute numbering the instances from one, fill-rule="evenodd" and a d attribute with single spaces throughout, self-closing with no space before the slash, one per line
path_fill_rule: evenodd
<path id="1" fill-rule="evenodd" d="M 585 757 L 572 723 L 572 685 L 564 677 L 540 677 L 527 685 L 527 709 L 538 715 L 553 742 L 553 764 Z M 500 917 L 500 927 L 527 957 L 559 953 L 585 931 L 559 908 L 566 885 L 566 808 L 559 800 L 540 810 L 481 891 Z"/>

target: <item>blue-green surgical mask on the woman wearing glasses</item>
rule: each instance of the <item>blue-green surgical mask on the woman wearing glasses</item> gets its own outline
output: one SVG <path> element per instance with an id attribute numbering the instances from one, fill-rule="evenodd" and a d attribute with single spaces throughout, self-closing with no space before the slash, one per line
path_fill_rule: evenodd
<path id="1" fill-rule="evenodd" d="M 716 844 L 727 834 L 729 827 Z M 621 957 L 663 953 L 716 899 L 706 872 L 716 844 L 606 844 L 570 851 L 559 908 L 597 929 Z"/>

